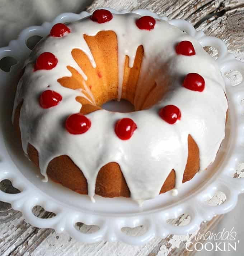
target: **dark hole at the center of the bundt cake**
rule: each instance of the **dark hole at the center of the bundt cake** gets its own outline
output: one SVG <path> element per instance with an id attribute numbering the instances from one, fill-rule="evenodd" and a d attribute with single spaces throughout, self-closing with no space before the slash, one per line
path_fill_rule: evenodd
<path id="1" fill-rule="evenodd" d="M 113 112 L 133 112 L 135 111 L 134 105 L 130 101 L 121 99 L 121 101 L 110 100 L 102 105 L 102 108 L 105 110 Z"/>

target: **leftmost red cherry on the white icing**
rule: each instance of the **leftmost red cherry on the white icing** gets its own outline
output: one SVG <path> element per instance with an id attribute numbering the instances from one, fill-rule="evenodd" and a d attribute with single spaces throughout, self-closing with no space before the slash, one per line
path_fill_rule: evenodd
<path id="1" fill-rule="evenodd" d="M 58 63 L 57 58 L 51 52 L 43 52 L 36 61 L 35 71 L 39 69 L 53 69 Z"/>

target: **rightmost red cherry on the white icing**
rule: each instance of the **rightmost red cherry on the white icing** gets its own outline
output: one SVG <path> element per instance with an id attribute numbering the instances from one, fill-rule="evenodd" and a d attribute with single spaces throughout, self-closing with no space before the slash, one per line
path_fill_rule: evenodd
<path id="1" fill-rule="evenodd" d="M 192 91 L 202 92 L 205 87 L 205 81 L 200 74 L 189 73 L 184 79 L 183 86 Z"/>

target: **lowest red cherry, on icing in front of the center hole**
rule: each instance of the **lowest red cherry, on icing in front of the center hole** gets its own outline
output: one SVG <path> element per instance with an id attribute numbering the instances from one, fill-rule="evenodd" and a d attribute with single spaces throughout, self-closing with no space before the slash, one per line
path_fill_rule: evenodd
<path id="1" fill-rule="evenodd" d="M 137 128 L 136 123 L 130 118 L 122 118 L 115 125 L 115 133 L 121 140 L 128 140 Z"/>

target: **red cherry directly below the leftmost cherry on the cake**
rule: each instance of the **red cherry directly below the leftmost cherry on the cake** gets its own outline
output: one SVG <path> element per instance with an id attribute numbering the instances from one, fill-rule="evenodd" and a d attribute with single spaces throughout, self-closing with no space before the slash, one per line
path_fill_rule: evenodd
<path id="1" fill-rule="evenodd" d="M 40 106 L 43 109 L 48 109 L 58 105 L 58 103 L 61 100 L 62 100 L 62 96 L 59 93 L 55 91 L 47 90 L 41 94 L 39 102 L 40 102 Z"/>

